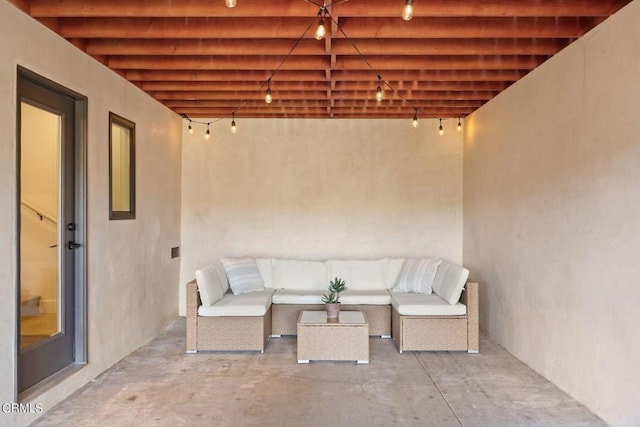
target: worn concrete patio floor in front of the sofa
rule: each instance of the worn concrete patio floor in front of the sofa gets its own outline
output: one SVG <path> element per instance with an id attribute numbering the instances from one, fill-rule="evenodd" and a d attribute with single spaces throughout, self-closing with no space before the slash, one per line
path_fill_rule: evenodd
<path id="1" fill-rule="evenodd" d="M 298 365 L 292 337 L 264 354 L 184 349 L 179 319 L 34 425 L 605 425 L 486 335 L 475 355 L 372 338 L 369 365 Z"/>

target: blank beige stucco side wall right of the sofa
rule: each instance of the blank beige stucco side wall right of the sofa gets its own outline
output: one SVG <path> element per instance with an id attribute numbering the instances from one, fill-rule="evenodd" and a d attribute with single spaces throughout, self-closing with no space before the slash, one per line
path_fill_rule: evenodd
<path id="1" fill-rule="evenodd" d="M 481 325 L 613 425 L 640 425 L 640 1 L 467 120 Z M 482 349 L 481 349 L 482 351 Z"/>

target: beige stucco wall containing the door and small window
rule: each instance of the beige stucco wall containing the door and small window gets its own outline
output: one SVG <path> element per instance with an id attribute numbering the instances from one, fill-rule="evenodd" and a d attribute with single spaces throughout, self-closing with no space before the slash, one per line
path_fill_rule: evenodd
<path id="1" fill-rule="evenodd" d="M 89 363 L 35 398 L 51 408 L 155 337 L 178 315 L 182 120 L 5 1 L 0 1 L 0 402 L 16 370 L 16 74 L 24 66 L 88 97 Z M 108 220 L 109 111 L 136 122 L 137 219 Z M 0 425 L 34 414 L 0 413 Z"/>

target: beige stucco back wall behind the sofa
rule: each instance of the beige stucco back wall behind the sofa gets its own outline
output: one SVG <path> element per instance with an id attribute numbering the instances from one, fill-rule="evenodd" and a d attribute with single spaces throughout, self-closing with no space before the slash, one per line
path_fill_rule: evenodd
<path id="1" fill-rule="evenodd" d="M 184 131 L 184 284 L 220 256 L 462 260 L 457 121 L 229 120 Z"/>

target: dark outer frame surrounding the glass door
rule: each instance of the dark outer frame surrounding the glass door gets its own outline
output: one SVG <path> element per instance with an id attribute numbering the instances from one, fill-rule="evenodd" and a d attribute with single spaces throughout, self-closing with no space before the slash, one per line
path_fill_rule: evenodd
<path id="1" fill-rule="evenodd" d="M 71 89 L 68 89 L 54 81 L 47 79 L 39 74 L 34 73 L 22 66 L 17 67 L 16 72 L 16 196 L 15 196 L 15 210 L 16 210 L 16 223 L 15 223 L 15 248 L 16 248 L 16 297 L 15 297 L 15 366 L 14 366 L 14 402 L 19 402 L 25 399 L 27 396 L 37 394 L 39 390 L 48 388 L 50 381 L 61 381 L 66 376 L 58 375 L 65 371 L 64 368 L 51 377 L 44 379 L 31 388 L 19 392 L 18 391 L 18 358 L 20 357 L 20 174 L 21 174 L 21 155 L 18 142 L 20 141 L 20 126 L 18 124 L 21 120 L 20 115 L 20 94 L 17 91 L 17 82 L 19 79 L 26 79 L 32 83 L 43 86 L 44 88 L 56 92 L 67 98 L 71 98 L 75 104 L 75 238 L 76 241 L 81 242 L 82 246 L 75 249 L 72 254 L 75 262 L 74 280 L 75 280 L 75 296 L 74 296 L 74 329 L 75 340 L 74 347 L 74 362 L 70 365 L 77 366 L 87 363 L 87 97 L 81 95 Z"/>

